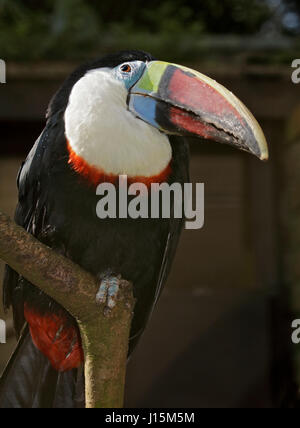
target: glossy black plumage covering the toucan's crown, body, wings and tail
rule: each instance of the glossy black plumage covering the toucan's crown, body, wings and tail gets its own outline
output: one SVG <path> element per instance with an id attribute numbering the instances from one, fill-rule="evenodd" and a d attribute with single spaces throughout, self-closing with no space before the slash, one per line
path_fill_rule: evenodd
<path id="1" fill-rule="evenodd" d="M 73 85 L 87 70 L 134 60 L 150 61 L 152 57 L 137 51 L 107 56 L 79 68 L 66 80 L 51 101 L 46 127 L 20 170 L 15 215 L 16 222 L 29 233 L 98 278 L 110 271 L 133 282 L 137 304 L 130 352 L 167 279 L 183 220 L 99 220 L 95 188 L 68 163 L 64 112 Z M 173 155 L 169 183 L 189 181 L 187 144 L 181 138 L 178 140 L 170 138 Z M 7 267 L 4 305 L 13 307 L 18 334 L 25 323 L 24 302 L 41 313 L 65 313 L 51 298 Z M 70 324 L 75 323 L 69 314 L 67 318 Z M 81 369 L 56 372 L 34 347 L 25 328 L 0 384 L 0 407 L 81 406 L 84 396 L 80 373 Z M 37 376 L 39 380 L 33 382 Z M 51 387 L 42 388 L 44 383 Z"/>

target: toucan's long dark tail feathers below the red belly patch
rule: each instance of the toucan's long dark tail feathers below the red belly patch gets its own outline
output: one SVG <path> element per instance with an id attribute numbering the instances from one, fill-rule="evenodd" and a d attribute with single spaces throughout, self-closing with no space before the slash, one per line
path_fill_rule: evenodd
<path id="1" fill-rule="evenodd" d="M 0 381 L 0 408 L 84 407 L 82 368 L 58 372 L 25 327 Z"/>

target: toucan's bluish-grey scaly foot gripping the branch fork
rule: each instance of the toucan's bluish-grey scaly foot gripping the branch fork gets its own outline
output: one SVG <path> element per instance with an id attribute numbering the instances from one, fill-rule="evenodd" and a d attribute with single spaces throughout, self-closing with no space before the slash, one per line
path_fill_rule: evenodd
<path id="1" fill-rule="evenodd" d="M 104 315 L 109 315 L 116 306 L 121 282 L 120 275 L 107 275 L 102 278 L 99 291 L 96 295 L 96 302 L 99 305 L 105 305 Z"/>

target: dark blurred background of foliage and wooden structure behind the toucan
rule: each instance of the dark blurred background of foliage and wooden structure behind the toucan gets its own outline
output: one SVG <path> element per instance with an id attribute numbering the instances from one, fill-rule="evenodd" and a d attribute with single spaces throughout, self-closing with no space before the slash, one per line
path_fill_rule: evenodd
<path id="1" fill-rule="evenodd" d="M 217 79 L 253 111 L 271 158 L 191 141 L 205 227 L 185 231 L 128 368 L 128 407 L 297 407 L 300 318 L 300 58 L 297 0 L 0 0 L 0 208 L 47 104 L 82 61 L 142 49 Z M 3 264 L 0 265 L 0 278 Z M 0 372 L 15 346 L 11 315 Z"/>

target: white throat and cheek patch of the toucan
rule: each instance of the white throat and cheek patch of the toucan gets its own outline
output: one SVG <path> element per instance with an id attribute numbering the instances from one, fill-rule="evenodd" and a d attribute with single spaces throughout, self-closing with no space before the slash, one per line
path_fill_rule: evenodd
<path id="1" fill-rule="evenodd" d="M 73 87 L 65 112 L 72 150 L 106 174 L 153 177 L 170 163 L 166 135 L 127 110 L 127 90 L 107 70 L 88 72 Z"/>

